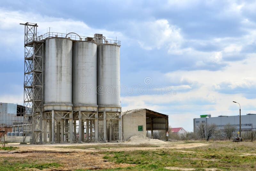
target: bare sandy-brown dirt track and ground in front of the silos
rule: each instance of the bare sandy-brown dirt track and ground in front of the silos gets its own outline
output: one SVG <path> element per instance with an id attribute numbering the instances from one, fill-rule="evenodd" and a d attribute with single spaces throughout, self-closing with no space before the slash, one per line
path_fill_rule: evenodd
<path id="1" fill-rule="evenodd" d="M 108 145 L 115 145 L 117 143 L 107 143 Z M 122 144 L 132 144 L 124 142 Z M 74 149 L 74 148 L 61 148 L 63 146 L 87 146 L 87 149 Z M 95 148 L 91 148 L 95 145 Z M 152 144 L 159 147 L 118 147 L 118 148 L 98 148 L 103 143 L 82 143 L 82 144 L 44 144 L 44 145 L 20 145 L 19 143 L 10 143 L 6 146 L 17 146 L 19 149 L 15 150 L 17 153 L 0 152 L 0 157 L 13 157 L 13 158 L 35 158 L 37 160 L 44 160 L 48 162 L 61 163 L 62 167 L 55 168 L 54 170 L 74 170 L 78 168 L 83 169 L 107 169 L 116 167 L 134 166 L 133 164 L 116 164 L 110 161 L 104 161 L 104 151 L 134 151 L 134 150 L 156 150 L 156 149 L 180 149 L 192 148 L 197 146 L 208 145 L 207 143 L 172 143 L 164 142 L 162 144 Z M 105 145 L 105 144 L 104 144 Z M 97 147 L 97 148 L 96 148 Z M 178 150 L 177 150 L 178 151 Z M 179 150 L 180 151 L 180 150 Z M 185 151 L 184 151 L 185 152 Z M 44 169 L 45 170 L 45 169 Z M 47 169 L 46 169 L 47 170 Z"/>

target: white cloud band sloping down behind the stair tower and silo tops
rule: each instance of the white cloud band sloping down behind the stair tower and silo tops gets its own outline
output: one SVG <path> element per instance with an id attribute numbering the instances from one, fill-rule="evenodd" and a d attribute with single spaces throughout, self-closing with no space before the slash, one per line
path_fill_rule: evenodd
<path id="1" fill-rule="evenodd" d="M 9 11 L 0 8 L 0 22 L 2 23 L 0 26 L 0 45 L 2 53 L 7 55 L 12 51 L 12 48 L 17 49 L 15 54 L 13 54 L 15 58 L 10 57 L 5 60 L 23 59 L 24 57 L 24 54 L 22 54 L 24 51 L 24 43 L 22 42 L 24 40 L 24 26 L 20 26 L 20 23 L 37 23 L 38 35 L 47 33 L 47 31 L 49 32 L 50 27 L 51 32 L 57 33 L 75 32 L 86 37 L 93 37 L 94 33 L 102 33 L 107 39 L 116 39 L 116 37 L 124 39 L 123 34 L 120 32 L 89 27 L 83 21 L 51 17 L 35 14 L 33 12 Z M 0 59 L 1 58 L 4 58 L 4 55 L 1 55 Z"/>

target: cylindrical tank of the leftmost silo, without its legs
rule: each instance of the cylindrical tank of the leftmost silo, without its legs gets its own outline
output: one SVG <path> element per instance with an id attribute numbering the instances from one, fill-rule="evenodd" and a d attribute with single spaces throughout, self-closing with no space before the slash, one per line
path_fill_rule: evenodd
<path id="1" fill-rule="evenodd" d="M 72 40 L 45 40 L 44 110 L 72 110 Z"/>

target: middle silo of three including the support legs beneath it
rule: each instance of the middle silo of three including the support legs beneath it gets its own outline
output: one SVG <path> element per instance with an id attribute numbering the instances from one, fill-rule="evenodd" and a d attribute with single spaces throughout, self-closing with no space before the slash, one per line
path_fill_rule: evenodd
<path id="1" fill-rule="evenodd" d="M 79 118 L 79 142 L 97 142 L 97 43 L 92 41 L 73 42 L 72 84 L 74 115 L 78 114 Z M 74 124 L 76 125 L 76 123 Z"/>

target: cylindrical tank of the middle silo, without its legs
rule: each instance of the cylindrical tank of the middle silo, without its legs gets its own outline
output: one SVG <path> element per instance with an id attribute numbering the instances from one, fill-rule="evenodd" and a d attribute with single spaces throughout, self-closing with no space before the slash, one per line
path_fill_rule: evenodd
<path id="1" fill-rule="evenodd" d="M 74 110 L 97 111 L 97 44 L 73 43 L 72 102 Z"/>

